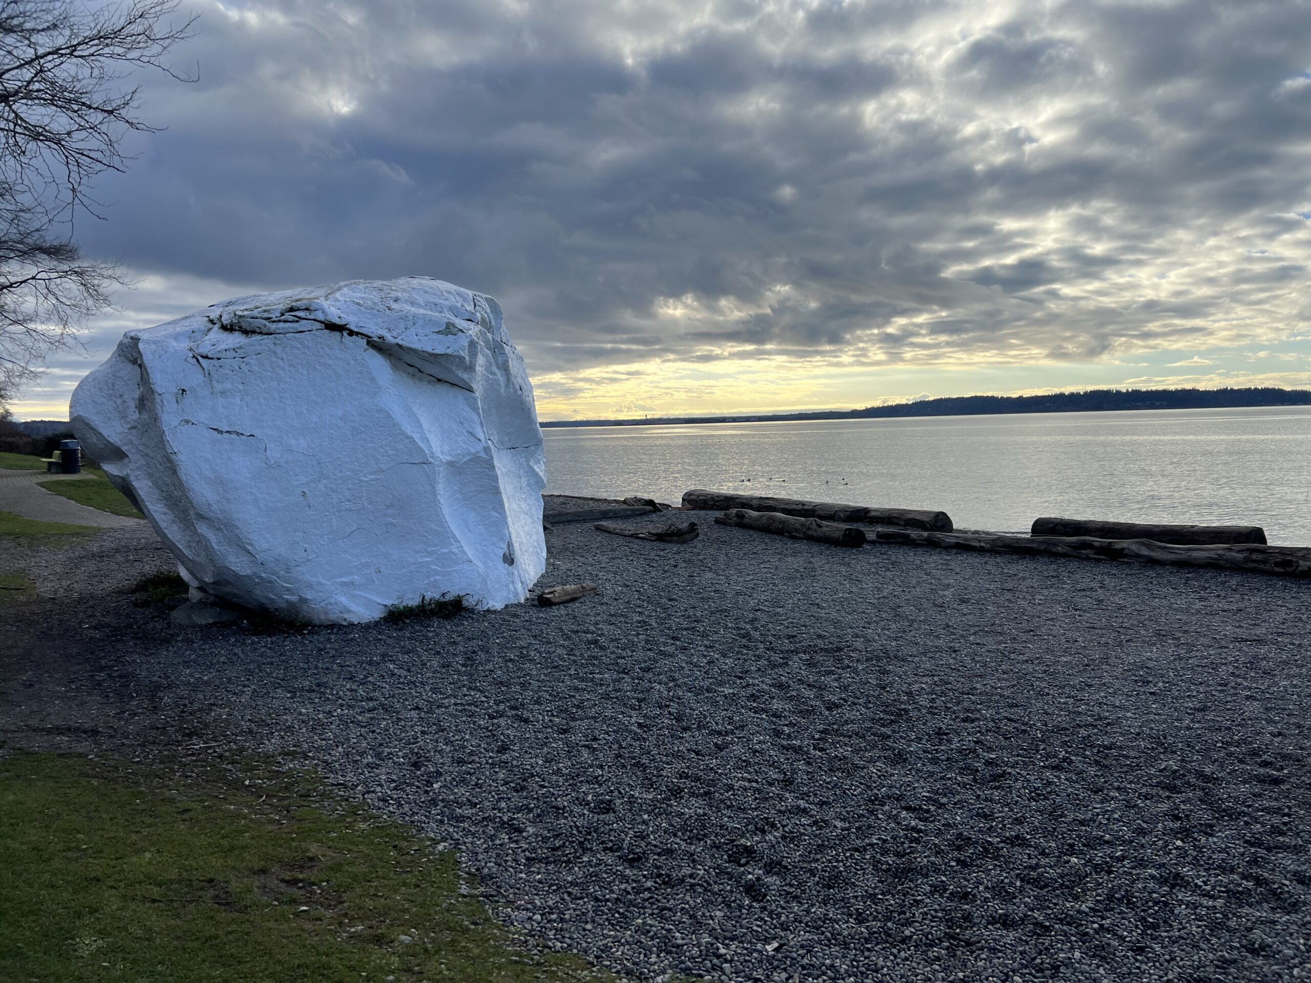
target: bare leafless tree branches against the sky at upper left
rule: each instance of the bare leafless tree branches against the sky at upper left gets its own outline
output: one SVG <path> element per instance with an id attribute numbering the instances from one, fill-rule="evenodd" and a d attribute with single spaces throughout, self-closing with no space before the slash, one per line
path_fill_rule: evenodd
<path id="1" fill-rule="evenodd" d="M 136 115 L 126 80 L 164 64 L 191 33 L 177 0 L 0 0 L 0 406 L 45 357 L 109 305 L 114 266 L 73 241 L 80 215 L 100 218 L 90 185 L 123 170 Z"/>

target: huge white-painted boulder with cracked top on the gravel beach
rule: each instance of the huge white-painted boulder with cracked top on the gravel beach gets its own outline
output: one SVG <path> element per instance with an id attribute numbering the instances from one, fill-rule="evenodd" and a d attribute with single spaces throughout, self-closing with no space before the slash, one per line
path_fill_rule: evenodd
<path id="1" fill-rule="evenodd" d="M 497 303 L 450 283 L 264 294 L 127 332 L 71 415 L 182 575 L 239 604 L 494 608 L 545 568 L 532 385 Z"/>

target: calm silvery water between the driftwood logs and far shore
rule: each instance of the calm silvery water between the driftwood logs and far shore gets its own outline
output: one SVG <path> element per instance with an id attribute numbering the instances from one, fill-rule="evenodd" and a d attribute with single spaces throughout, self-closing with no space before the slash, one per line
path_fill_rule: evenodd
<path id="1" fill-rule="evenodd" d="M 1038 515 L 1251 523 L 1311 545 L 1311 408 L 548 429 L 547 490 L 678 503 L 690 488 Z"/>

